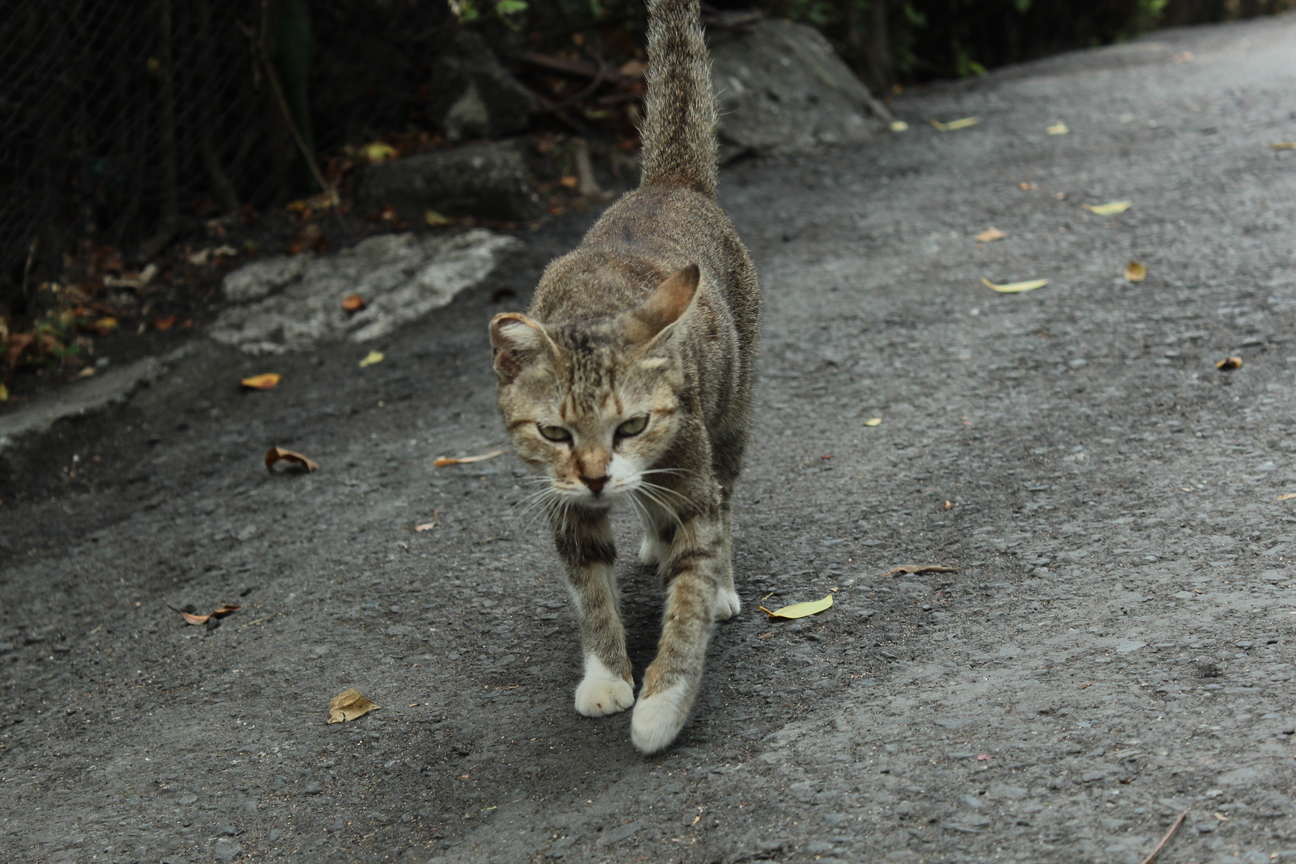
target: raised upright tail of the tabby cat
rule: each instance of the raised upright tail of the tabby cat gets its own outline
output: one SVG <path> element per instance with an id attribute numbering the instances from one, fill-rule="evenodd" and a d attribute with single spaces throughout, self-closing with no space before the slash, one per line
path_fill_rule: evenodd
<path id="1" fill-rule="evenodd" d="M 700 0 L 648 0 L 643 187 L 715 196 L 719 146 Z"/>

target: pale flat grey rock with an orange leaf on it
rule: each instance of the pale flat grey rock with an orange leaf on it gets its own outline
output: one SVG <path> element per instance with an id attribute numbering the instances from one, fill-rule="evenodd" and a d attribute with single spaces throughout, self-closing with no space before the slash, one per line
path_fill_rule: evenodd
<path id="1" fill-rule="evenodd" d="M 486 279 L 521 241 L 478 228 L 460 234 L 381 234 L 337 255 L 273 258 L 237 269 L 210 335 L 248 354 L 280 354 L 321 339 L 368 342 L 448 303 Z M 355 313 L 342 298 L 359 294 Z"/>

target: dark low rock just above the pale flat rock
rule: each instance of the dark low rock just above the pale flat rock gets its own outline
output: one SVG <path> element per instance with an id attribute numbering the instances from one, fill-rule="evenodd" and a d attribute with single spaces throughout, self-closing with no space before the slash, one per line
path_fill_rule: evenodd
<path id="1" fill-rule="evenodd" d="M 500 222 L 529 222 L 544 214 L 516 140 L 371 165 L 360 175 L 356 196 L 362 207 L 390 205 L 406 222 L 422 222 L 428 210 Z"/>

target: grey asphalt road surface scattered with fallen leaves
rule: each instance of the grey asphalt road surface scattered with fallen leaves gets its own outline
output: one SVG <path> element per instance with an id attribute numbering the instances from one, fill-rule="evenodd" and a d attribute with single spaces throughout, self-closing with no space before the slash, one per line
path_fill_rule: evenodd
<path id="1" fill-rule="evenodd" d="M 503 446 L 486 323 L 569 218 L 377 365 L 194 343 L 0 505 L 5 859 L 1137 864 L 1187 812 L 1164 864 L 1296 860 L 1296 18 L 897 113 L 723 176 L 766 289 L 744 611 L 674 747 L 574 712 L 520 464 L 433 466 Z M 351 687 L 381 710 L 327 725 Z"/>

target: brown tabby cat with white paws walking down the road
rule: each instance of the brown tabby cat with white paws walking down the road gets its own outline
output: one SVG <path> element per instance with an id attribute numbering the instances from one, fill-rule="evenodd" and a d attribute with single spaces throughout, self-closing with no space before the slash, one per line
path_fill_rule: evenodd
<path id="1" fill-rule="evenodd" d="M 761 289 L 715 201 L 717 114 L 699 0 L 649 0 L 643 174 L 490 324 L 499 407 L 537 473 L 579 620 L 575 710 L 634 705 L 657 753 L 697 696 L 715 620 L 737 614 L 730 504 L 746 447 Z M 666 595 L 635 702 L 609 509 L 644 526 Z"/>

